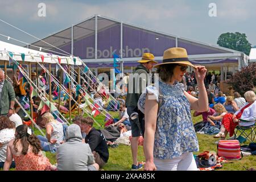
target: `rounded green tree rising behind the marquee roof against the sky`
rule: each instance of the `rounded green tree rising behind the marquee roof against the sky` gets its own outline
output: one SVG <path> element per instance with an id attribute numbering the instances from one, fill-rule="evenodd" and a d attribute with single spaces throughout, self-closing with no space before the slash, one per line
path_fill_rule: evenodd
<path id="1" fill-rule="evenodd" d="M 241 51 L 246 55 L 249 55 L 251 49 L 251 44 L 248 42 L 247 36 L 245 34 L 241 34 L 240 32 L 227 32 L 225 34 L 221 34 L 218 37 L 217 44 L 221 47 Z"/>

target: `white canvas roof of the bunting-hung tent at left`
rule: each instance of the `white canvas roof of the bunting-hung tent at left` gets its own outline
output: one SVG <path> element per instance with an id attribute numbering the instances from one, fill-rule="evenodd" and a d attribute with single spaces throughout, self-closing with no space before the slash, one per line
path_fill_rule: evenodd
<path id="1" fill-rule="evenodd" d="M 0 41 L 0 61 L 9 61 L 9 53 L 13 53 L 13 59 L 16 61 L 22 61 L 21 54 L 24 53 L 25 55 L 25 63 L 32 62 L 32 63 L 42 63 L 41 55 L 44 56 L 44 63 L 52 63 L 56 64 L 56 61 L 58 61 L 58 57 L 61 59 L 61 64 L 71 64 L 73 65 L 73 58 L 69 56 L 57 56 L 52 55 L 46 52 L 41 51 L 35 51 L 34 49 L 28 49 L 20 46 L 16 46 L 14 44 L 6 43 Z M 81 60 L 77 59 L 76 57 L 76 65 L 81 65 Z"/>

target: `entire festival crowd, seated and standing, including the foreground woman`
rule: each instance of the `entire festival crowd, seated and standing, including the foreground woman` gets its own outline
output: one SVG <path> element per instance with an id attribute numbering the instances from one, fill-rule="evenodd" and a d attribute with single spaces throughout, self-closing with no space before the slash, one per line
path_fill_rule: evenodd
<path id="1" fill-rule="evenodd" d="M 234 97 L 225 96 L 220 89 L 220 75 L 207 74 L 204 66 L 191 64 L 186 49 L 167 49 L 160 64 L 151 53 L 143 53 L 138 63 L 133 72 L 137 76 L 126 75 L 122 79 L 126 81 L 122 86 L 127 85 L 126 90 L 133 86 L 133 92 L 114 94 L 118 102 L 107 102 L 110 93 L 97 81 L 82 82 L 79 92 L 72 88 L 70 94 L 75 101 L 64 99 L 65 93 L 47 78 L 45 69 L 38 77 L 38 73 L 31 73 L 31 80 L 40 89 L 40 97 L 31 97 L 31 85 L 19 78 L 19 70 L 13 77 L 13 85 L 0 70 L 0 168 L 97 171 L 108 163 L 110 144 L 123 142 L 131 146 L 131 170 L 139 170 L 143 166 L 137 158 L 138 145 L 143 139 L 144 170 L 197 170 L 193 157 L 193 152 L 199 151 L 196 132 L 225 139 L 228 133 L 232 137 L 240 119 L 255 122 L 255 93 L 248 91 L 245 98 L 237 92 Z M 194 71 L 187 73 L 188 67 Z M 159 74 L 159 83 L 149 85 L 140 76 L 147 76 L 152 68 Z M 128 84 L 130 79 L 133 85 Z M 149 86 L 143 89 L 142 85 Z M 58 112 L 39 109 L 49 90 L 53 101 L 59 97 L 63 101 L 63 105 L 52 102 L 61 113 L 79 107 L 93 111 L 97 105 L 97 110 L 118 111 L 119 116 L 109 118 L 108 126 L 101 130 L 94 127 L 93 115 L 83 117 L 84 113 L 73 118 L 68 126 L 58 120 Z M 86 94 L 94 103 L 88 104 L 84 99 Z M 15 104 L 15 97 L 23 108 Z M 31 121 L 26 120 L 23 110 L 30 110 L 29 104 L 35 113 L 33 119 L 45 129 L 45 136 L 35 135 L 31 130 Z M 192 110 L 195 110 L 193 116 L 202 115 L 203 121 L 193 125 Z M 110 130 L 114 133 L 109 137 Z M 49 162 L 45 152 L 56 154 L 56 164 Z"/>

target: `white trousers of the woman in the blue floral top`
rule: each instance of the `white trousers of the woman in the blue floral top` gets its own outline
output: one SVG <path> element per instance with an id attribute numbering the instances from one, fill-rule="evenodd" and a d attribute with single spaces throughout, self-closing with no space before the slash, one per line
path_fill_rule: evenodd
<path id="1" fill-rule="evenodd" d="M 157 171 L 198 171 L 192 152 L 185 152 L 175 159 L 156 159 L 154 163 Z"/>

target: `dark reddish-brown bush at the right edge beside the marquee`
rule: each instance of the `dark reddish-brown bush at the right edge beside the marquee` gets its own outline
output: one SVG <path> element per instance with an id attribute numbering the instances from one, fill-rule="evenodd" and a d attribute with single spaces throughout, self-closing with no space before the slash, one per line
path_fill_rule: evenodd
<path id="1" fill-rule="evenodd" d="M 249 90 L 255 90 L 256 86 L 256 63 L 251 63 L 247 67 L 243 67 L 241 71 L 233 75 L 230 84 L 234 90 L 241 95 Z"/>

